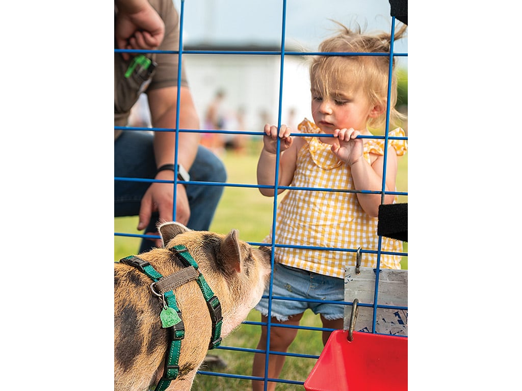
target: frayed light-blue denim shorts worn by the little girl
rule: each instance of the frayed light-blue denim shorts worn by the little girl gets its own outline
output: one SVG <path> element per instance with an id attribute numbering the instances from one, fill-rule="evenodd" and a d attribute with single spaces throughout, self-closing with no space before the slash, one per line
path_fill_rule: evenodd
<path id="1" fill-rule="evenodd" d="M 269 287 L 264 295 L 268 296 Z M 345 300 L 345 282 L 342 278 L 324 276 L 286 266 L 280 263 L 274 265 L 274 285 L 272 297 L 289 297 L 313 300 Z M 327 320 L 341 319 L 345 314 L 342 304 L 281 300 L 272 298 L 272 314 L 280 322 L 288 320 L 289 316 L 303 313 L 310 308 L 315 314 L 322 314 Z M 268 315 L 268 299 L 261 299 L 256 310 Z"/>

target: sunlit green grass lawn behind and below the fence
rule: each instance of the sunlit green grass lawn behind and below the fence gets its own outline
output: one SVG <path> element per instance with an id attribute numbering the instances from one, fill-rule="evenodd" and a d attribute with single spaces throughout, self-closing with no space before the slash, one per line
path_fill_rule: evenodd
<path id="1" fill-rule="evenodd" d="M 246 154 L 227 152 L 222 159 L 228 171 L 229 184 L 256 184 L 256 165 L 261 144 L 252 142 Z M 407 154 L 399 158 L 399 173 L 397 190 L 408 191 L 408 157 Z M 278 199 L 282 199 L 281 194 Z M 408 202 L 406 196 L 400 196 L 399 202 Z M 274 199 L 264 197 L 256 188 L 225 187 L 223 197 L 218 205 L 216 215 L 210 227 L 211 231 L 228 233 L 230 229 L 239 230 L 240 239 L 248 242 L 260 242 L 269 233 L 272 223 Z M 114 219 L 114 230 L 117 233 L 138 234 L 136 230 L 137 217 L 118 217 Z M 124 256 L 136 254 L 140 238 L 115 236 L 114 260 Z M 405 243 L 404 251 L 408 247 Z M 408 268 L 407 256 L 403 257 L 402 268 Z M 259 322 L 260 315 L 253 310 L 248 321 Z M 307 310 L 301 322 L 303 326 L 321 327 L 319 317 Z M 258 325 L 242 324 L 239 329 L 223 340 L 222 346 L 255 349 L 260 336 Z M 289 352 L 306 355 L 320 355 L 323 348 L 320 331 L 300 329 Z M 252 373 L 253 353 L 216 349 L 210 354 L 218 355 L 228 366 L 217 372 L 250 376 Z M 288 357 L 284 365 L 281 378 L 304 382 L 312 370 L 315 359 Z M 242 380 L 221 376 L 200 374 L 196 376 L 193 390 L 248 390 L 251 389 L 250 380 Z M 300 385 L 279 383 L 277 390 L 303 390 Z"/>

